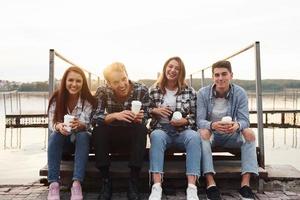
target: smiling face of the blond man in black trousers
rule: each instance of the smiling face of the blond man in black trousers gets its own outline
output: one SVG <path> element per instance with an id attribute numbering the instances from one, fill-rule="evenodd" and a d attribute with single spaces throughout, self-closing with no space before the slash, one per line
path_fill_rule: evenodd
<path id="1" fill-rule="evenodd" d="M 126 97 L 129 93 L 130 83 L 124 71 L 112 71 L 109 75 L 108 84 L 118 97 Z"/>

